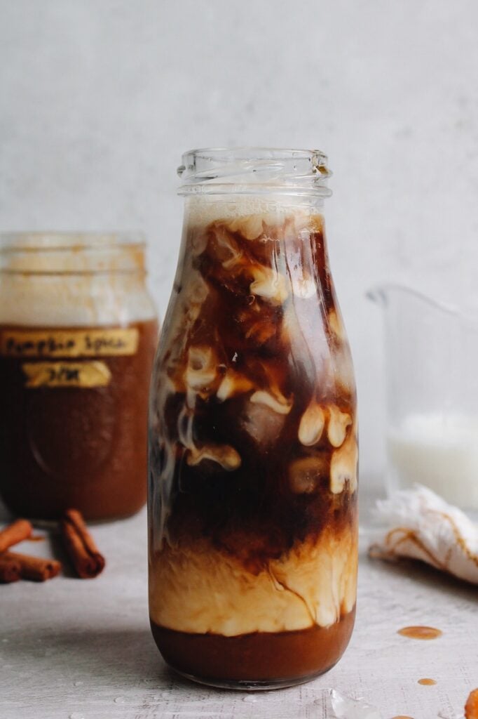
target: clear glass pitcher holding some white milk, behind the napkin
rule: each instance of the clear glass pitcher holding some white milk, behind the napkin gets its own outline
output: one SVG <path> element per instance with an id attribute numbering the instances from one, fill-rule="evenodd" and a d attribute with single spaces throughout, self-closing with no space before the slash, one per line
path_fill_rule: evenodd
<path id="1" fill-rule="evenodd" d="M 368 293 L 385 318 L 388 490 L 419 482 L 478 509 L 478 319 L 414 290 Z"/>

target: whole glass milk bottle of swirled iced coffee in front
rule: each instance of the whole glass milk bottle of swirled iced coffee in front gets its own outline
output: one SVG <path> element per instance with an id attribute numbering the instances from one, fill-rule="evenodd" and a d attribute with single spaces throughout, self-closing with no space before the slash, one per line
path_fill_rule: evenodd
<path id="1" fill-rule="evenodd" d="M 352 633 L 357 418 L 326 161 L 197 150 L 179 168 L 151 384 L 149 606 L 168 664 L 215 686 L 304 682 Z"/>

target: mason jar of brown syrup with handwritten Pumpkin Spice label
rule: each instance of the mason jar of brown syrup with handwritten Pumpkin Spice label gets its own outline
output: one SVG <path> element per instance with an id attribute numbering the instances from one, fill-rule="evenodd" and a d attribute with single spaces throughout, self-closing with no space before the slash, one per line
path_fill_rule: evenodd
<path id="1" fill-rule="evenodd" d="M 128 516 L 146 500 L 156 310 L 144 238 L 0 237 L 0 493 L 20 516 Z"/>

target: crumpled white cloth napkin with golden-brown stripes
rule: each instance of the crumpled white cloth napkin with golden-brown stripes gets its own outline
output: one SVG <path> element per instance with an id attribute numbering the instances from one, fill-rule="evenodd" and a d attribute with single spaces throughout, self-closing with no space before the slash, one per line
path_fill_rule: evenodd
<path id="1" fill-rule="evenodd" d="M 415 485 L 378 500 L 375 516 L 388 531 L 370 546 L 370 557 L 421 559 L 478 585 L 478 525 L 460 509 Z"/>

